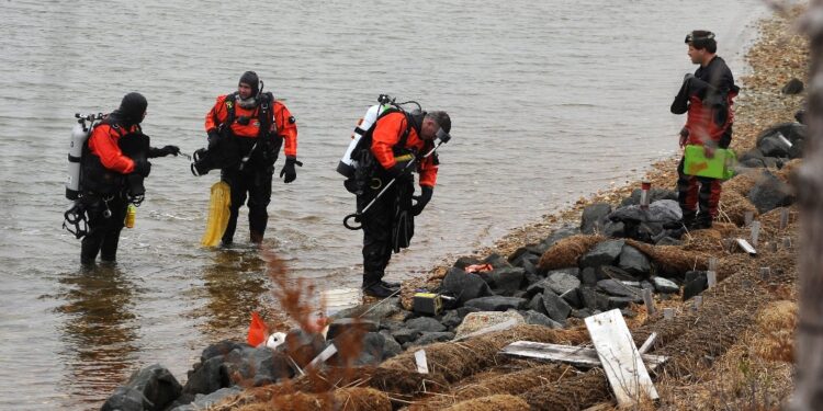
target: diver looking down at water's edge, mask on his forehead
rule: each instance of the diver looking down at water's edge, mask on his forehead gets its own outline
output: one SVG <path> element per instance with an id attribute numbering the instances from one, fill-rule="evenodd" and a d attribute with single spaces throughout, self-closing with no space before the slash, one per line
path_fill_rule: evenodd
<path id="1" fill-rule="evenodd" d="M 362 288 L 365 295 L 385 298 L 399 286 L 383 281 L 385 269 L 393 251 L 408 247 L 414 217 L 422 213 L 431 199 L 438 172 L 438 158 L 432 151 L 435 139 L 448 141 L 450 130 L 451 118 L 446 112 L 399 110 L 382 114 L 370 130 L 371 142 L 363 145 L 367 147 L 362 152 L 369 157 L 364 163 L 374 164 L 373 172 L 365 176 L 369 184 L 357 196 L 358 210 L 368 207 L 359 217 L 363 228 Z M 415 180 L 410 171 L 415 170 L 419 173 L 419 196 L 413 196 Z M 386 186 L 388 189 L 377 196 Z M 417 199 L 415 204 L 413 198 Z"/>

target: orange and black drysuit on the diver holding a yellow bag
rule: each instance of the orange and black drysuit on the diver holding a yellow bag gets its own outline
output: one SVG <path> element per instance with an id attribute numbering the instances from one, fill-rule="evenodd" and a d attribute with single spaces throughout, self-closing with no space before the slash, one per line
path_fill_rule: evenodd
<path id="1" fill-rule="evenodd" d="M 221 95 L 205 117 L 210 151 L 216 146 L 230 152 L 232 160 L 222 168 L 221 179 L 232 189 L 230 217 L 223 243 L 232 243 L 240 206 L 248 193 L 251 241 L 260 242 L 266 231 L 271 201 L 271 181 L 280 147 L 286 158 L 285 171 L 293 172 L 297 156 L 297 125 L 289 109 L 262 93 L 259 101 L 244 106 L 238 93 Z M 219 142 L 214 141 L 218 139 Z M 244 160 L 246 159 L 246 160 Z M 281 176 L 283 172 L 281 172 Z M 286 182 L 294 180 L 292 176 Z"/>

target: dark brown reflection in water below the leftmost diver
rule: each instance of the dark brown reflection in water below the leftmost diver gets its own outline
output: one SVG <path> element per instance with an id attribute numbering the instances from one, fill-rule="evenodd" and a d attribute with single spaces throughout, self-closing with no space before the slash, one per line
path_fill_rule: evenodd
<path id="1" fill-rule="evenodd" d="M 114 389 L 134 370 L 131 354 L 140 351 L 133 312 L 136 284 L 116 264 L 82 267 L 59 283 L 58 298 L 65 304 L 55 310 L 65 315 L 58 331 L 68 372 L 63 385 L 79 396 L 89 388 Z"/>

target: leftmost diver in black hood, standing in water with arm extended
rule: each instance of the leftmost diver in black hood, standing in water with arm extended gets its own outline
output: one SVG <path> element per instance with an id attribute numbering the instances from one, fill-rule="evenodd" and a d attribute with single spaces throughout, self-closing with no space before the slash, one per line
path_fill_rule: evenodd
<path id="1" fill-rule="evenodd" d="M 140 93 L 123 96 L 120 107 L 91 132 L 83 144 L 81 195 L 77 202 L 88 216 L 88 232 L 82 239 L 80 261 L 92 264 L 98 253 L 102 261 L 117 255 L 120 231 L 129 204 L 139 205 L 145 196 L 143 180 L 151 170 L 149 158 L 177 156 L 177 146 L 150 147 L 140 123 L 148 102 Z"/>

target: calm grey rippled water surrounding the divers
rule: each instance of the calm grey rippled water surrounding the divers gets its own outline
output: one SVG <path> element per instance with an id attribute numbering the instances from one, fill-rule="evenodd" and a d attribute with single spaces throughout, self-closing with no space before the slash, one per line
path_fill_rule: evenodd
<path id="1" fill-rule="evenodd" d="M 435 197 L 393 279 L 675 152 L 668 113 L 694 71 L 683 39 L 715 31 L 735 75 L 759 1 L 20 1 L 0 3 L 0 409 L 93 409 L 140 366 L 182 380 L 208 343 L 243 338 L 271 305 L 258 251 L 199 247 L 208 187 L 182 158 L 154 162 L 116 266 L 79 267 L 60 229 L 76 112 L 149 101 L 156 146 L 203 146 L 203 118 L 245 70 L 297 117 L 297 180 L 275 181 L 266 247 L 295 277 L 360 284 L 353 197 L 335 167 L 380 93 L 447 110 Z M 674 184 L 674 182 L 672 182 Z"/>

